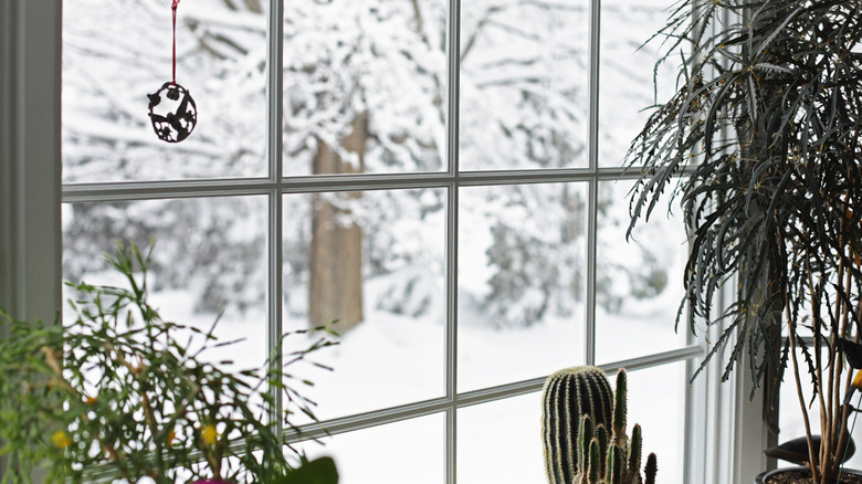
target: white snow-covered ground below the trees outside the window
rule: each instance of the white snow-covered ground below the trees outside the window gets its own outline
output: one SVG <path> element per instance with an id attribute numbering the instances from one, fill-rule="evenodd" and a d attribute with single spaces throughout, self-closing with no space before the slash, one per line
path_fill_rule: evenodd
<path id="1" fill-rule="evenodd" d="M 374 291 L 368 294 L 371 297 Z M 156 293 L 151 302 L 162 317 L 201 329 L 208 329 L 214 317 L 196 313 L 195 295 L 188 291 Z M 601 320 L 622 334 L 651 334 L 656 339 L 672 334 L 664 320 L 612 314 L 602 314 Z M 299 324 L 304 323 L 286 322 L 288 327 Z M 219 339 L 245 339 L 216 349 L 207 358 L 232 359 L 235 368 L 259 366 L 265 355 L 264 326 L 262 312 L 225 314 L 218 326 Z M 574 335 L 571 328 L 580 327 L 574 320 L 508 329 L 465 325 L 459 328 L 459 366 L 467 370 L 460 386 L 475 389 L 578 365 L 579 338 L 557 336 L 561 329 Z M 340 338 L 339 346 L 314 355 L 315 361 L 334 371 L 312 366 L 294 370 L 315 382 L 306 393 L 319 403 L 317 413 L 322 419 L 442 397 L 444 334 L 444 326 L 435 318 L 372 311 L 366 323 Z M 519 365 L 525 355 L 535 359 L 527 369 Z M 682 483 L 683 371 L 682 364 L 674 364 L 634 371 L 629 377 L 630 425 L 639 422 L 643 427 L 644 450 L 659 455 L 660 476 L 665 483 Z M 538 392 L 460 409 L 459 483 L 543 482 L 539 415 Z M 304 449 L 311 455 L 334 455 L 345 484 L 400 484 L 406 480 L 439 484 L 444 480 L 444 414 L 339 434 L 324 442 L 324 448 L 307 444 Z"/>

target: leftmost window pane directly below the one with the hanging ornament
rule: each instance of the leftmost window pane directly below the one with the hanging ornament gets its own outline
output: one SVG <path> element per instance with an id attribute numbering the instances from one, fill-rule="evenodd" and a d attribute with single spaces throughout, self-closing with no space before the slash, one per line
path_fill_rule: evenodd
<path id="1" fill-rule="evenodd" d="M 102 255 L 113 253 L 118 241 L 146 250 L 155 240 L 150 304 L 166 320 L 204 332 L 224 311 L 214 335 L 219 343 L 242 341 L 202 358 L 259 368 L 267 355 L 265 208 L 262 197 L 66 203 L 63 276 L 123 284 Z"/>

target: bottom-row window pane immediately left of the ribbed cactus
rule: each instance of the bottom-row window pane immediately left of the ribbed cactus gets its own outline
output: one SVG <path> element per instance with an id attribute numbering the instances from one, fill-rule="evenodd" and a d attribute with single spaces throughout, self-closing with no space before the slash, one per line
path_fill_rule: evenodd
<path id="1" fill-rule="evenodd" d="M 458 482 L 545 482 L 542 394 L 459 409 Z"/>

